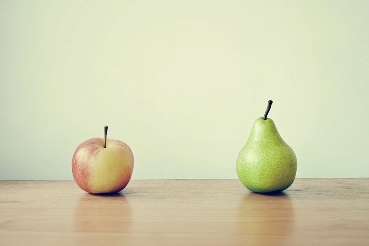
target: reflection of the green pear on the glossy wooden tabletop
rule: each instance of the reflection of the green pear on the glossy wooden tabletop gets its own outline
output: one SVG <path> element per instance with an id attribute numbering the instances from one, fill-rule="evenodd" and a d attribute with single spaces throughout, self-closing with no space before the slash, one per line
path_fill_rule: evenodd
<path id="1" fill-rule="evenodd" d="M 236 221 L 238 242 L 283 245 L 294 234 L 293 203 L 283 192 L 273 195 L 250 192 L 239 201 Z"/>

